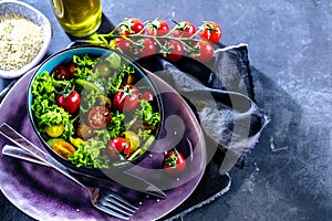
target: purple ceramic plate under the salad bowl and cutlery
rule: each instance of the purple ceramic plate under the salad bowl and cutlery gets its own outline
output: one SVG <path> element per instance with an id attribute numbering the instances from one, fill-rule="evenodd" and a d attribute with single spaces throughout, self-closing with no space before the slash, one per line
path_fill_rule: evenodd
<path id="1" fill-rule="evenodd" d="M 27 88 L 32 74 L 33 71 L 30 71 L 20 78 L 2 101 L 0 124 L 6 122 L 43 148 L 27 113 Z M 194 113 L 169 85 L 154 74 L 149 75 L 164 103 L 164 137 L 157 140 L 154 152 L 129 172 L 164 189 L 167 198 L 156 199 L 126 188 L 110 187 L 139 207 L 133 220 L 156 220 L 173 211 L 193 193 L 206 166 L 204 136 Z M 160 169 L 164 151 L 177 143 L 177 149 L 187 157 L 187 169 L 181 177 L 167 177 Z M 0 136 L 0 150 L 6 144 L 10 141 Z M 3 194 L 37 220 L 116 220 L 94 209 L 87 192 L 55 170 L 1 154 L 0 183 Z"/>

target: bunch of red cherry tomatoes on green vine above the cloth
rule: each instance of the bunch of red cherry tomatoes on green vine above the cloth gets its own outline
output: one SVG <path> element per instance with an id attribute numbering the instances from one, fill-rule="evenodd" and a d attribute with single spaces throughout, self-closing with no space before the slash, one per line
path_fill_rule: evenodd
<path id="1" fill-rule="evenodd" d="M 159 19 L 142 23 L 136 18 L 126 18 L 115 25 L 110 33 L 95 33 L 90 39 L 79 40 L 79 42 L 120 50 L 124 53 L 129 52 L 132 55 L 142 55 L 151 50 L 149 52 L 160 53 L 169 60 L 172 60 L 169 56 L 177 52 L 181 54 L 180 56 L 187 53 L 199 62 L 207 62 L 214 57 L 215 48 L 217 48 L 215 44 L 221 38 L 221 28 L 217 23 L 205 21 L 195 30 L 195 25 L 188 21 L 177 22 L 173 19 L 170 21 L 175 23 L 172 29 Z M 174 44 L 178 46 L 175 48 Z M 147 54 L 143 56 L 147 56 Z M 178 59 L 174 61 L 178 61 Z"/>

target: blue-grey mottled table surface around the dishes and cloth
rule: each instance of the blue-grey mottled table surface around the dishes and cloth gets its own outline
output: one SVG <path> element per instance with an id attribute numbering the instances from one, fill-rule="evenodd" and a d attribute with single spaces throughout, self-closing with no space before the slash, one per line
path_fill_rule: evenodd
<path id="1" fill-rule="evenodd" d="M 48 55 L 70 38 L 49 1 L 25 0 L 53 25 Z M 256 99 L 271 118 L 221 198 L 183 220 L 332 219 L 332 3 L 329 0 L 103 1 L 113 23 L 126 17 L 221 24 L 221 42 L 247 43 Z M 9 81 L 0 81 L 0 88 Z M 0 219 L 28 221 L 1 194 Z"/>

